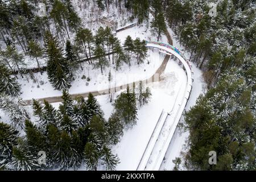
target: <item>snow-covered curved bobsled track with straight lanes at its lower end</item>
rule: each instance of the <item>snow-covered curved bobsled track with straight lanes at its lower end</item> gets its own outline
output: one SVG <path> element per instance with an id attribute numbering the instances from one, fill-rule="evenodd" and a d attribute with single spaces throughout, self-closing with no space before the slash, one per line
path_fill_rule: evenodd
<path id="1" fill-rule="evenodd" d="M 168 114 L 163 111 L 160 115 L 159 121 L 156 123 L 155 129 L 137 167 L 138 171 L 159 170 L 185 105 L 188 102 L 193 83 L 192 66 L 179 49 L 170 44 L 152 41 L 147 42 L 147 47 L 158 48 L 160 52 L 176 56 L 185 69 L 187 83 L 184 92 L 181 92 L 177 96 L 179 98 L 176 98 L 174 107 L 168 111 Z"/>

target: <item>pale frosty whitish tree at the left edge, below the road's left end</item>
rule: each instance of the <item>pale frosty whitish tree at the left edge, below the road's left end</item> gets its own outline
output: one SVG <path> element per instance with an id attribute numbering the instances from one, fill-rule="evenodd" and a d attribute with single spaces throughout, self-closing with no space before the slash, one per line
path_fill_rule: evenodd
<path id="1" fill-rule="evenodd" d="M 24 122 L 28 118 L 24 109 L 25 103 L 21 98 L 0 94 L 0 108 L 10 117 L 11 123 L 15 127 L 24 128 Z"/>

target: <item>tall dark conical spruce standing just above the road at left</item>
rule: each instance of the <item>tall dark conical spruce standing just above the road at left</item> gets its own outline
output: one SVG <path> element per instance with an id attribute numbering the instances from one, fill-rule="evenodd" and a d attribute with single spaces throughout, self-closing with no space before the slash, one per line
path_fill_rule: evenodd
<path id="1" fill-rule="evenodd" d="M 47 74 L 49 81 L 55 89 L 70 88 L 70 73 L 67 60 L 64 59 L 62 50 L 56 38 L 51 35 L 47 38 Z"/>

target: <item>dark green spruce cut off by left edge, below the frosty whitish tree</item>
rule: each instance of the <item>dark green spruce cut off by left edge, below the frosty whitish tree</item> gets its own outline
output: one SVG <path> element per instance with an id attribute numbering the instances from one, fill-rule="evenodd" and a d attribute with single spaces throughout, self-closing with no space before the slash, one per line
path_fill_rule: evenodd
<path id="1" fill-rule="evenodd" d="M 5 169 L 5 164 L 11 161 L 18 135 L 19 132 L 14 127 L 0 122 L 0 169 Z"/>

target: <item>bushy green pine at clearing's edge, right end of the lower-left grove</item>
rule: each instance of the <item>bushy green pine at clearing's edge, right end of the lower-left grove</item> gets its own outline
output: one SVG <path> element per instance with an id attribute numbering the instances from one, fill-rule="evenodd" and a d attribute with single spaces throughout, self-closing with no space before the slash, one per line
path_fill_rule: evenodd
<path id="1" fill-rule="evenodd" d="M 136 98 L 134 93 L 129 92 L 129 87 L 127 88 L 127 93 L 121 93 L 117 96 L 114 107 L 115 111 L 119 114 L 121 121 L 128 127 L 131 127 L 136 123 Z"/>

